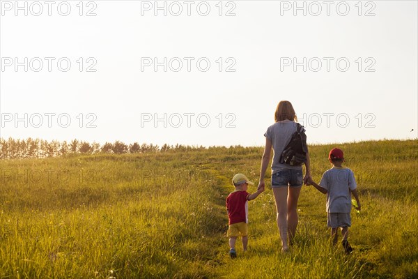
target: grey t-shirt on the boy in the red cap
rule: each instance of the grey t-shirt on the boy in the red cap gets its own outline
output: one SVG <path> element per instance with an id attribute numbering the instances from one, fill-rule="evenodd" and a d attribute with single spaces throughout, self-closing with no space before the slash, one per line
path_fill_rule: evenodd
<path id="1" fill-rule="evenodd" d="M 332 167 L 324 172 L 319 186 L 327 189 L 327 212 L 350 213 L 350 190 L 357 188 L 354 173 L 347 167 Z"/>

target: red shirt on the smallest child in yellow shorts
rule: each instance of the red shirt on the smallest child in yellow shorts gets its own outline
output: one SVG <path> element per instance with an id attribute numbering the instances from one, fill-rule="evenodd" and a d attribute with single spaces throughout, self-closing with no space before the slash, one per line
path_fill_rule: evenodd
<path id="1" fill-rule="evenodd" d="M 248 202 L 247 191 L 235 191 L 226 198 L 226 209 L 228 209 L 229 225 L 245 222 L 248 223 Z"/>

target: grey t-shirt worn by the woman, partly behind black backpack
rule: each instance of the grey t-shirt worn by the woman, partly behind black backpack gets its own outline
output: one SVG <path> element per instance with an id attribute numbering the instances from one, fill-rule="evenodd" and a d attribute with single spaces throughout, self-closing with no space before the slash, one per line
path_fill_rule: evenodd
<path id="1" fill-rule="evenodd" d="M 267 128 L 267 132 L 265 132 L 264 136 L 272 142 L 274 153 L 272 160 L 272 174 L 283 169 L 302 169 L 302 166 L 291 166 L 279 163 L 281 152 L 283 152 L 286 145 L 291 141 L 292 135 L 296 130 L 296 122 L 290 120 L 276 122 Z"/>

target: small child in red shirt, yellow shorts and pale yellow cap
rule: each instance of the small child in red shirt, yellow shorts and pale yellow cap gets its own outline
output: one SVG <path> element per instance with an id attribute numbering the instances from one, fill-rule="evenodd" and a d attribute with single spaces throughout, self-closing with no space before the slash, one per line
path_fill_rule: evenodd
<path id="1" fill-rule="evenodd" d="M 242 237 L 242 249 L 244 252 L 247 250 L 248 201 L 258 197 L 264 191 L 264 188 L 257 190 L 256 193 L 251 195 L 247 193 L 248 185 L 254 185 L 254 183 L 249 181 L 244 174 L 235 174 L 232 183 L 235 186 L 235 191 L 226 198 L 226 211 L 228 211 L 229 219 L 229 229 L 227 232 L 230 248 L 229 255 L 231 258 L 235 258 L 237 257 L 235 241 L 239 235 Z"/>

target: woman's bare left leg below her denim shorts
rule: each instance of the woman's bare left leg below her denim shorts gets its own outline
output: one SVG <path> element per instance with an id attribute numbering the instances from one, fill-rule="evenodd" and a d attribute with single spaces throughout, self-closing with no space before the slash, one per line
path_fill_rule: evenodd
<path id="1" fill-rule="evenodd" d="M 288 188 L 273 188 L 274 200 L 276 201 L 277 227 L 279 227 L 281 239 L 281 251 L 289 250 L 288 247 L 288 224 L 287 224 L 287 195 Z"/>

